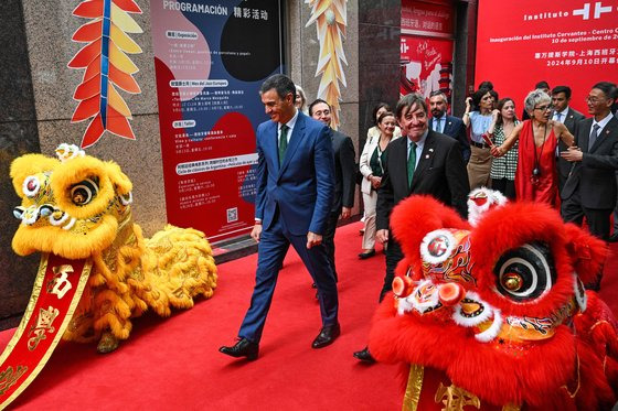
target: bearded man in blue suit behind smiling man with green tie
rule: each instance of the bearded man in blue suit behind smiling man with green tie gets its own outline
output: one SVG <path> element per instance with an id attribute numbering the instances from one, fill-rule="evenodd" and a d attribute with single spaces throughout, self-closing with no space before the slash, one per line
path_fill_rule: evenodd
<path id="1" fill-rule="evenodd" d="M 468 164 L 470 159 L 470 141 L 466 133 L 464 121 L 457 117 L 448 116 L 446 95 L 440 90 L 431 91 L 429 95 L 429 108 L 431 109 L 431 119 L 429 120 L 429 129 L 452 137 L 459 143 L 464 163 Z"/>

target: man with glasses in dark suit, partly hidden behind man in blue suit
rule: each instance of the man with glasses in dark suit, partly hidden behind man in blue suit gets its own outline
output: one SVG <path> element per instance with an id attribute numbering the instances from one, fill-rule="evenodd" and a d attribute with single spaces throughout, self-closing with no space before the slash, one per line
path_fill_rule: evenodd
<path id="1" fill-rule="evenodd" d="M 323 122 L 328 127 L 331 123 L 330 106 L 322 99 L 317 99 L 309 105 L 309 116 L 313 119 Z M 334 199 L 330 208 L 330 215 L 327 221 L 323 240 L 329 261 L 334 273 L 338 278 L 337 268 L 334 264 L 334 230 L 339 216 L 349 218 L 352 214 L 354 206 L 354 190 L 356 188 L 356 162 L 354 153 L 354 144 L 352 139 L 348 136 L 332 130 L 331 134 L 332 150 L 334 152 Z"/>

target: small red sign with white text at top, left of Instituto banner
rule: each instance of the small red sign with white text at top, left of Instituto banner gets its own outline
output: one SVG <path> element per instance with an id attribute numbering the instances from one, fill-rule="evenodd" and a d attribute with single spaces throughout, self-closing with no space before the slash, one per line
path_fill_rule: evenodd
<path id="1" fill-rule="evenodd" d="M 452 7 L 450 4 L 402 1 L 402 32 L 405 34 L 452 36 Z"/>

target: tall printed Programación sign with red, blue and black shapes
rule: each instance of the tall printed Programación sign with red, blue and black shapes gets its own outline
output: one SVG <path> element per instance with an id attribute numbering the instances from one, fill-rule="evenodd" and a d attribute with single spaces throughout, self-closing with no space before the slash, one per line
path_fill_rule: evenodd
<path id="1" fill-rule="evenodd" d="M 283 73 L 279 0 L 151 0 L 170 224 L 211 241 L 254 225 L 259 86 Z"/>

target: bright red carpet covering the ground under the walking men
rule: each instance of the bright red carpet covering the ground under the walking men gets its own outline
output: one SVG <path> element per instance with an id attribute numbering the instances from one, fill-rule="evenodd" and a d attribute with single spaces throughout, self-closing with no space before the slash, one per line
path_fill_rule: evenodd
<path id="1" fill-rule="evenodd" d="M 311 280 L 290 251 L 266 323 L 260 358 L 217 351 L 232 344 L 248 306 L 256 256 L 220 266 L 210 301 L 171 318 L 135 321 L 128 343 L 109 355 L 63 343 L 39 378 L 13 402 L 23 410 L 399 410 L 396 366 L 359 364 L 384 275 L 382 253 L 359 261 L 361 224 L 337 235 L 341 337 L 311 349 L 320 328 Z M 618 313 L 618 267 L 606 264 L 601 296 Z M 0 347 L 13 331 L 0 333 Z"/>

